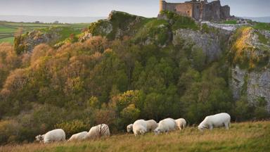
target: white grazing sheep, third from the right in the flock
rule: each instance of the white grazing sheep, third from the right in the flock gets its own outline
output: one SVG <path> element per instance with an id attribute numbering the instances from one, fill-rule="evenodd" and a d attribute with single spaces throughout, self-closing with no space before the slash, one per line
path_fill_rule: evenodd
<path id="1" fill-rule="evenodd" d="M 155 134 L 160 134 L 163 132 L 171 132 L 176 129 L 176 122 L 172 118 L 167 118 L 160 120 L 158 127 L 154 130 Z"/>

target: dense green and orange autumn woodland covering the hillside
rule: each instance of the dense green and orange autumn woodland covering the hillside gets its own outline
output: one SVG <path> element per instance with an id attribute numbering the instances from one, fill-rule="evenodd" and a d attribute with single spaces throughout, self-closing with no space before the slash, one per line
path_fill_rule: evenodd
<path id="1" fill-rule="evenodd" d="M 209 62 L 202 49 L 181 44 L 96 36 L 32 53 L 0 44 L 0 143 L 33 141 L 55 128 L 70 137 L 101 123 L 114 134 L 137 119 L 193 125 L 221 112 L 238 122 L 269 116 L 264 102 L 233 101 L 226 48 Z"/>

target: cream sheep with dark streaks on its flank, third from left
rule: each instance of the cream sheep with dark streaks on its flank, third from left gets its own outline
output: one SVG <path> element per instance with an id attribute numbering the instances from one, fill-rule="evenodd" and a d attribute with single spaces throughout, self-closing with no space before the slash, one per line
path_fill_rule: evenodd
<path id="1" fill-rule="evenodd" d="M 86 134 L 85 139 L 96 139 L 98 137 L 109 137 L 110 129 L 108 125 L 101 124 L 91 127 L 89 132 Z"/>

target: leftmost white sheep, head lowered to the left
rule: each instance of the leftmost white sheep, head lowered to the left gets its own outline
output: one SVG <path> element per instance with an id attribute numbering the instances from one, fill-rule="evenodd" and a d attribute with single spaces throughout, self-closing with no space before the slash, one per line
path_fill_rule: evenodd
<path id="1" fill-rule="evenodd" d="M 65 141 L 65 132 L 63 129 L 54 129 L 43 135 L 36 137 L 37 141 L 48 144 L 53 141 Z"/>

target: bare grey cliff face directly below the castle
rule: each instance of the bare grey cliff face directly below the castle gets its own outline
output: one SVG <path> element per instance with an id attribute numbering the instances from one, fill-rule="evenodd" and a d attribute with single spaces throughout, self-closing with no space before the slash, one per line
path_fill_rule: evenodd
<path id="1" fill-rule="evenodd" d="M 192 42 L 195 47 L 202 48 L 210 62 L 217 60 L 221 54 L 221 46 L 217 35 L 179 29 L 174 32 L 172 43 L 176 45 L 179 43 L 179 39 L 184 39 L 186 44 Z"/>

